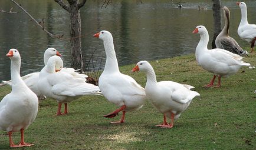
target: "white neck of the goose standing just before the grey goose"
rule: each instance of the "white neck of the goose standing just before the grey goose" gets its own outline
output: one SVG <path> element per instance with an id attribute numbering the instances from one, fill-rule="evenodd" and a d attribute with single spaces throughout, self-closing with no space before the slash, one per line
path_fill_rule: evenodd
<path id="1" fill-rule="evenodd" d="M 198 61 L 198 56 L 203 53 L 204 51 L 208 50 L 207 45 L 209 42 L 209 35 L 208 31 L 200 34 L 200 41 L 198 46 L 196 46 L 196 60 Z"/>

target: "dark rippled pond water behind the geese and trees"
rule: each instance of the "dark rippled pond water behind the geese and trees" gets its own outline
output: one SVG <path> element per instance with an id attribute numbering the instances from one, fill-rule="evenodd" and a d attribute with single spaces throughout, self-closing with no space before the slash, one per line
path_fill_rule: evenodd
<path id="1" fill-rule="evenodd" d="M 69 15 L 51 0 L 17 0 L 27 11 L 54 34 L 64 34 L 68 39 Z M 160 1 L 112 1 L 101 8 L 103 1 L 87 1 L 81 8 L 82 50 L 85 64 L 93 56 L 94 67 L 104 67 L 106 55 L 103 42 L 93 34 L 110 31 L 114 38 L 119 65 L 136 64 L 141 60 L 157 60 L 195 52 L 199 35 L 192 34 L 197 25 L 205 25 L 212 40 L 212 1 L 182 1 L 183 8 L 169 0 Z M 178 2 L 178 1 L 174 1 Z M 250 46 L 237 35 L 241 12 L 236 1 L 222 1 L 231 11 L 230 35 L 240 46 Z M 247 3 L 248 22 L 256 24 L 256 1 Z M 198 9 L 201 6 L 205 9 Z M 21 75 L 40 71 L 44 66 L 43 54 L 48 47 L 56 48 L 62 55 L 64 66 L 70 66 L 70 42 L 51 38 L 11 1 L 0 1 L 0 9 L 18 14 L 0 14 L 0 80 L 10 79 L 10 61 L 5 54 L 17 48 L 22 57 Z M 209 44 L 211 48 L 211 44 Z M 102 63 L 100 63 L 102 61 Z M 102 64 L 102 65 L 101 65 Z M 132 69 L 132 68 L 131 68 Z"/>

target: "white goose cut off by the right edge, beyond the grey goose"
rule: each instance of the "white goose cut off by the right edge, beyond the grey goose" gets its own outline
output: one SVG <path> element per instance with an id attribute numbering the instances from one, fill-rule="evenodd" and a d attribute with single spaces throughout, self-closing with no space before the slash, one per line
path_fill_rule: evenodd
<path id="1" fill-rule="evenodd" d="M 256 41 L 256 25 L 248 24 L 247 21 L 247 6 L 245 2 L 237 2 L 237 5 L 241 9 L 241 22 L 238 26 L 237 33 L 241 39 L 251 44 L 251 52 L 254 51 L 254 44 Z"/>

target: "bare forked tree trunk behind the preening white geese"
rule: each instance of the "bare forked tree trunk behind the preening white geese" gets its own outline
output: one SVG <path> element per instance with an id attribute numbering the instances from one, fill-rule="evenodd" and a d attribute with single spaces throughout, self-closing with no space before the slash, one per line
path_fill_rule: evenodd
<path id="1" fill-rule="evenodd" d="M 81 52 L 81 18 L 78 1 L 70 5 L 70 46 L 71 46 L 71 66 L 75 69 L 84 69 Z"/>

